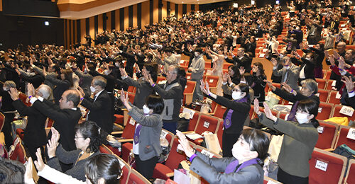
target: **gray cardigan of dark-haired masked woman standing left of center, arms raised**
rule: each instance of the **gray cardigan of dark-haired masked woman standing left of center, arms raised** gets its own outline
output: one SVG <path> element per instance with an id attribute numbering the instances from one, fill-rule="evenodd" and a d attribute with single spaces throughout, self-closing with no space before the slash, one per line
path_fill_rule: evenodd
<path id="1" fill-rule="evenodd" d="M 132 105 L 129 115 L 141 124 L 141 132 L 139 133 L 139 158 L 142 161 L 160 156 L 162 149 L 160 146 L 160 133 L 163 127 L 161 116 L 152 114 L 145 116 L 143 110 Z"/>

